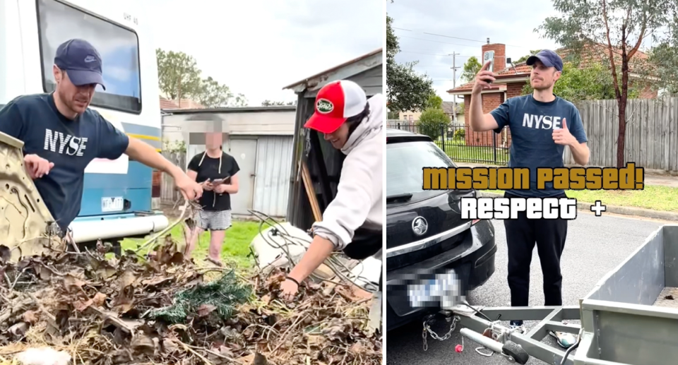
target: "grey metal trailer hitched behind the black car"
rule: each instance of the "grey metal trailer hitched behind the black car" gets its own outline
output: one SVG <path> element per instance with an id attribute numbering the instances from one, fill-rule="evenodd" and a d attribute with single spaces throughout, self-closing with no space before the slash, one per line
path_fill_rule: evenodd
<path id="1" fill-rule="evenodd" d="M 666 365 L 678 363 L 678 225 L 664 225 L 626 260 L 600 280 L 575 306 L 528 306 L 468 310 L 444 309 L 446 335 L 430 329 L 424 318 L 424 344 L 430 335 L 449 338 L 460 328 L 475 350 L 525 364 L 530 357 L 553 365 Z M 528 333 L 501 321 L 540 321 Z M 581 321 L 565 324 L 563 321 Z M 549 331 L 577 336 L 566 350 L 542 342 Z M 424 345 L 425 348 L 425 345 Z M 458 351 L 463 349 L 457 348 Z"/>

